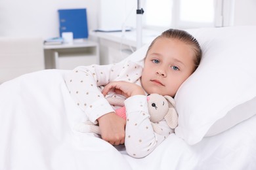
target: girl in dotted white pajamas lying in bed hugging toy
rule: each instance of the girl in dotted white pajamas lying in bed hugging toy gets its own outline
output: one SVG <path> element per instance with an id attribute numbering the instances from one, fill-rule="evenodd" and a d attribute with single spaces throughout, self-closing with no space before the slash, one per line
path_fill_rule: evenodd
<path id="1" fill-rule="evenodd" d="M 106 98 L 125 98 L 127 118 L 132 114 L 137 119 L 141 115 L 139 112 L 148 113 L 147 94 L 174 97 L 182 82 L 194 73 L 201 58 L 202 50 L 192 35 L 179 29 L 168 29 L 152 41 L 142 64 L 127 60 L 110 65 L 80 66 L 66 75 L 65 80 L 77 105 L 91 122 L 99 124 L 102 139 L 113 145 L 127 145 L 126 121 L 115 114 L 117 107 L 111 106 Z M 149 121 L 149 117 L 143 121 Z M 139 126 L 137 128 L 137 132 L 140 131 Z M 155 143 L 150 150 L 145 150 L 145 144 L 133 150 L 133 144 L 129 143 L 131 147 L 127 152 L 143 151 L 139 156 L 133 155 L 141 158 L 163 140 L 163 137 L 153 135 L 146 141 Z"/>

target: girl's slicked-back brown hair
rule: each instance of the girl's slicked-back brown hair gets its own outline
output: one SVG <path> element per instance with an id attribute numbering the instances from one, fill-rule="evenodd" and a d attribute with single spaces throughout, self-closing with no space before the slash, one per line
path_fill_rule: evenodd
<path id="1" fill-rule="evenodd" d="M 185 44 L 190 45 L 191 48 L 194 50 L 194 71 L 198 68 L 198 65 L 200 64 L 202 58 L 202 49 L 198 41 L 192 35 L 180 29 L 167 29 L 166 31 L 163 31 L 161 35 L 156 37 L 154 41 L 151 42 L 150 46 L 148 47 L 148 51 L 152 48 L 154 43 L 160 38 L 177 39 L 179 41 L 184 42 Z M 146 56 L 148 55 L 148 51 L 146 52 Z"/>

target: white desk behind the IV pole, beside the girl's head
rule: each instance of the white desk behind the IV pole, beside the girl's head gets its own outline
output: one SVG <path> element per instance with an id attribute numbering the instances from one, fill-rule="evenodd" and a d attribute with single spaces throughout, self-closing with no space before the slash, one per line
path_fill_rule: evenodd
<path id="1" fill-rule="evenodd" d="M 160 31 L 143 29 L 142 44 L 152 42 Z M 126 58 L 136 50 L 136 31 L 121 32 L 95 32 L 89 35 L 98 39 L 100 44 L 100 62 L 102 64 L 116 63 Z"/>

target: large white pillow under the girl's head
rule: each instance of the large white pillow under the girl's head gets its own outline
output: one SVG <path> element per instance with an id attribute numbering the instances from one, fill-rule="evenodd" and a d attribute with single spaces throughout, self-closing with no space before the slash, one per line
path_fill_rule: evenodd
<path id="1" fill-rule="evenodd" d="M 179 88 L 178 137 L 196 144 L 256 114 L 256 26 L 188 29 L 203 58 Z M 254 103 L 254 104 L 253 104 Z"/>

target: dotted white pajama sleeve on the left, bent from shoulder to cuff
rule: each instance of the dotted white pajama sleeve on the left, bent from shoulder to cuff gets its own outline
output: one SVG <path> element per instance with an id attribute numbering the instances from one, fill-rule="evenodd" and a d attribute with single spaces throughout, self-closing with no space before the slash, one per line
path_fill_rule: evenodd
<path id="1" fill-rule="evenodd" d="M 65 76 L 66 86 L 75 103 L 94 124 L 97 119 L 114 112 L 101 93 L 103 86 L 114 80 L 135 82 L 142 68 L 136 63 L 116 63 L 111 65 L 89 65 L 76 67 Z"/>

